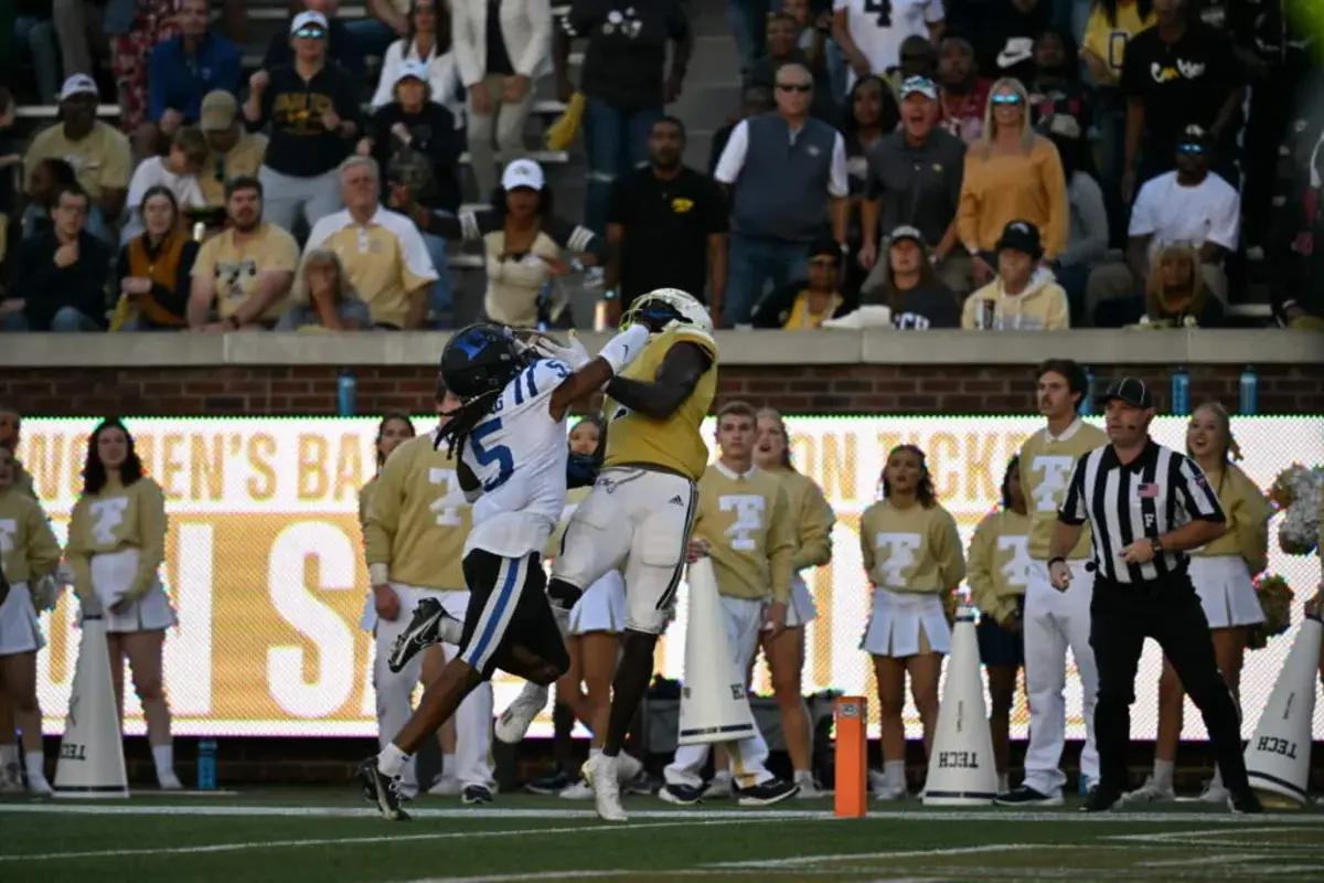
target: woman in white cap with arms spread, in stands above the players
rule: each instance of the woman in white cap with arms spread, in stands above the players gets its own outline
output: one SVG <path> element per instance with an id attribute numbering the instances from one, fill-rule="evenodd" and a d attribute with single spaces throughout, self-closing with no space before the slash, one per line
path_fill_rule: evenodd
<path id="1" fill-rule="evenodd" d="M 532 326 L 539 320 L 540 303 L 548 286 L 567 275 L 571 267 L 561 252 L 575 252 L 585 266 L 600 265 L 604 242 L 593 230 L 577 226 L 552 213 L 552 191 L 543 169 L 531 159 L 508 163 L 502 172 L 502 185 L 495 192 L 493 208 L 479 212 L 414 217 L 421 228 L 448 240 L 482 242 L 487 269 L 487 291 L 483 312 L 493 322 Z"/>

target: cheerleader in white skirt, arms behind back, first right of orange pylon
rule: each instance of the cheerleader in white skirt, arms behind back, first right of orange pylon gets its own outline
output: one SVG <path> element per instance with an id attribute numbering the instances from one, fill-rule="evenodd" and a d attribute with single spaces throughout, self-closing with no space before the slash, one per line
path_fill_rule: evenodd
<path id="1" fill-rule="evenodd" d="M 899 445 L 883 467 L 883 499 L 859 518 L 859 545 L 874 609 L 861 649 L 874 657 L 883 772 L 870 774 L 880 800 L 906 797 L 906 675 L 924 724 L 924 755 L 937 723 L 937 678 L 952 631 L 943 594 L 965 576 L 961 537 L 937 504 L 924 451 Z"/>

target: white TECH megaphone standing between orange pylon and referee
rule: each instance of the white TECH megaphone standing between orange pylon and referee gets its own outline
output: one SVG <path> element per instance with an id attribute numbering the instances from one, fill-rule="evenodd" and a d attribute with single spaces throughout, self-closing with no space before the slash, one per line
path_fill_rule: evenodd
<path id="1" fill-rule="evenodd" d="M 974 612 L 961 608 L 952 629 L 952 657 L 947 662 L 943 703 L 937 708 L 937 731 L 924 780 L 924 804 L 978 806 L 992 804 L 996 796 L 993 733 L 984 707 Z"/>

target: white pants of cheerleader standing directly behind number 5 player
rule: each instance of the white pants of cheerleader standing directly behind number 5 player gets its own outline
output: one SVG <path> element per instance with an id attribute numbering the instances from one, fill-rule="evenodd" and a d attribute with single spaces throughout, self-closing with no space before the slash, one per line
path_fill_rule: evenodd
<path id="1" fill-rule="evenodd" d="M 413 691 L 422 676 L 421 653 L 414 654 L 400 673 L 392 673 L 387 667 L 396 637 L 409 625 L 409 618 L 422 598 L 437 598 L 446 613 L 461 621 L 469 606 L 469 592 L 440 592 L 404 582 L 392 582 L 391 588 L 400 598 L 400 616 L 391 622 L 377 620 L 375 642 L 377 655 L 372 662 L 372 686 L 377 692 L 377 744 L 381 748 L 396 737 L 413 714 Z M 451 659 L 459 651 L 454 645 L 441 646 L 446 659 Z M 455 711 L 455 777 L 461 785 L 482 785 L 491 789 L 496 784 L 491 764 L 491 721 L 493 686 L 485 680 L 465 696 Z M 402 780 L 406 793 L 418 789 L 413 760 L 405 767 Z"/>

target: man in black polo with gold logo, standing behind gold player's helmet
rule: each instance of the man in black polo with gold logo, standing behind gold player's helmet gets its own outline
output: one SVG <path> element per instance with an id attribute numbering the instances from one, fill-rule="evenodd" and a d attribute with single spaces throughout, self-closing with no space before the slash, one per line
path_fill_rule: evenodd
<path id="1" fill-rule="evenodd" d="M 649 135 L 649 164 L 616 180 L 606 216 L 608 287 L 616 315 L 641 294 L 674 287 L 704 301 L 720 326 L 727 283 L 727 201 L 718 184 L 682 164 L 685 123 L 663 116 Z M 704 283 L 708 297 L 704 298 Z"/>

